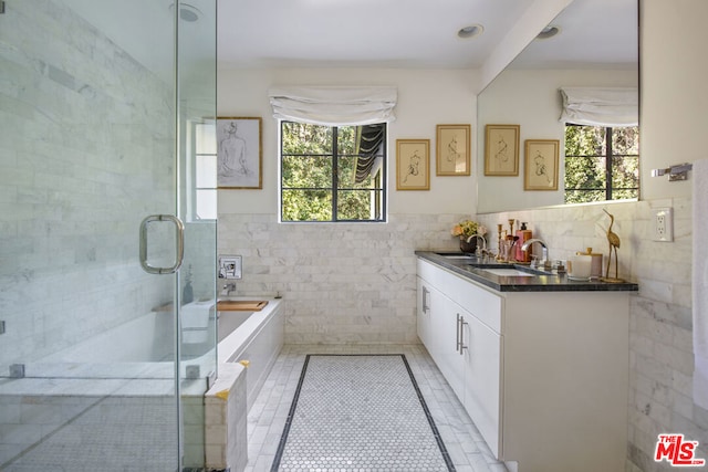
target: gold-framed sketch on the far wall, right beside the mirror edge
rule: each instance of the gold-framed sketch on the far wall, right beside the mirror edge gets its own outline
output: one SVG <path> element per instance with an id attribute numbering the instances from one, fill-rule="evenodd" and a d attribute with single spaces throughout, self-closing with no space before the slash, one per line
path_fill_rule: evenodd
<path id="1" fill-rule="evenodd" d="M 470 125 L 438 125 L 436 176 L 469 176 Z"/>

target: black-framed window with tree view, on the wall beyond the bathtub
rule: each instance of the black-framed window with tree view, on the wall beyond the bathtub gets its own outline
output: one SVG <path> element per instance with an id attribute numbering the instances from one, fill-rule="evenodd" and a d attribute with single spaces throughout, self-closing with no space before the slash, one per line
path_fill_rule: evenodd
<path id="1" fill-rule="evenodd" d="M 386 124 L 281 122 L 281 221 L 385 221 Z"/>

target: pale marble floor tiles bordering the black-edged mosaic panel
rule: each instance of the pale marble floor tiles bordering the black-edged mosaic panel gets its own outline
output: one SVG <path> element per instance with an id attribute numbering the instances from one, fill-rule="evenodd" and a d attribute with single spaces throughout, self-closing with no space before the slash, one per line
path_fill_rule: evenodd
<path id="1" fill-rule="evenodd" d="M 267 472 L 278 451 L 288 411 L 308 354 L 404 354 L 435 420 L 455 468 L 459 472 L 506 472 L 420 345 L 292 345 L 278 357 L 249 413 L 247 472 Z"/>

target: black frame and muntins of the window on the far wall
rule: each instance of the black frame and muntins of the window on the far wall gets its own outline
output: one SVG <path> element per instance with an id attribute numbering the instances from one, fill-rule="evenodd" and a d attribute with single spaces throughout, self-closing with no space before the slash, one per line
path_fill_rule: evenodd
<path id="1" fill-rule="evenodd" d="M 284 154 L 283 153 L 283 125 L 287 123 L 295 123 L 308 126 L 321 126 L 325 128 L 330 128 L 332 130 L 332 141 L 331 141 L 331 153 L 327 154 Z M 340 158 L 346 156 L 361 156 L 358 154 L 344 154 L 339 150 L 339 130 L 342 127 L 357 127 L 360 125 L 337 125 L 337 126 L 327 126 L 327 125 L 315 125 L 309 123 L 301 123 L 296 120 L 289 119 L 279 119 L 278 120 L 278 141 L 279 141 L 279 201 L 278 201 L 278 216 L 279 222 L 281 223 L 385 223 L 388 219 L 387 211 L 387 197 L 388 197 L 388 123 L 383 122 L 379 123 L 384 126 L 384 137 L 382 140 L 382 145 L 379 146 L 381 153 L 377 153 L 376 156 L 381 156 L 382 164 L 379 170 L 376 175 L 372 176 L 374 179 L 374 187 L 363 189 L 356 187 L 339 187 L 339 164 Z M 331 172 L 331 185 L 329 187 L 285 187 L 283 183 L 283 157 L 326 157 L 332 159 L 332 172 Z M 332 206 L 331 206 L 331 216 L 330 220 L 285 220 L 283 219 L 283 210 L 284 210 L 284 192 L 288 190 L 326 190 L 332 195 Z M 369 191 L 374 195 L 372 198 L 375 201 L 375 209 L 377 216 L 374 216 L 372 219 L 358 220 L 358 219 L 341 219 L 339 218 L 339 192 L 342 191 Z"/>

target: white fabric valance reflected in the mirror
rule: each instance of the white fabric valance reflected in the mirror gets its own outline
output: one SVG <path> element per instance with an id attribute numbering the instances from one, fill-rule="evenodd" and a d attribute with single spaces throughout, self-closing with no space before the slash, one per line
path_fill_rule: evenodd
<path id="1" fill-rule="evenodd" d="M 636 87 L 562 87 L 560 120 L 586 126 L 637 126 L 639 91 Z"/>

